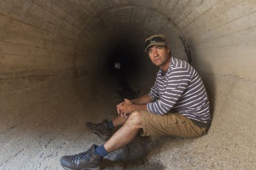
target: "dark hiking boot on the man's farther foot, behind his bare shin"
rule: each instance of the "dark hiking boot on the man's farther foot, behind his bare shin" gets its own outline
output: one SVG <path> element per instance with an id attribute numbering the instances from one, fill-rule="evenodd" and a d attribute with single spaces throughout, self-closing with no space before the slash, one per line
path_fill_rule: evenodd
<path id="1" fill-rule="evenodd" d="M 111 129 L 108 127 L 108 120 L 102 120 L 100 124 L 92 124 L 90 122 L 86 123 L 87 129 L 90 132 L 95 133 L 100 136 L 104 141 L 107 141 L 111 137 Z"/>

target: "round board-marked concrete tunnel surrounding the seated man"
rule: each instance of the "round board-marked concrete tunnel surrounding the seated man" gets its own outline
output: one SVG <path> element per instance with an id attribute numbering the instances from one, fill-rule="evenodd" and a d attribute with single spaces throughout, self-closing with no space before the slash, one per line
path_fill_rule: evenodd
<path id="1" fill-rule="evenodd" d="M 102 169 L 256 168 L 256 1 L 1 0 L 0 30 L 0 169 L 62 169 L 61 156 L 103 144 L 85 123 L 149 92 L 153 34 L 201 75 L 212 126 L 137 135 Z"/>

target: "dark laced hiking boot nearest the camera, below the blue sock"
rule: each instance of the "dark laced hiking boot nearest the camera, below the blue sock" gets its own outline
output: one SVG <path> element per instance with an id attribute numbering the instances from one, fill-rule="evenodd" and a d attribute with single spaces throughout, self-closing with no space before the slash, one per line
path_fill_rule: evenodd
<path id="1" fill-rule="evenodd" d="M 93 144 L 85 152 L 61 157 L 61 166 L 66 170 L 99 170 L 103 157 L 96 154 L 95 147 Z"/>

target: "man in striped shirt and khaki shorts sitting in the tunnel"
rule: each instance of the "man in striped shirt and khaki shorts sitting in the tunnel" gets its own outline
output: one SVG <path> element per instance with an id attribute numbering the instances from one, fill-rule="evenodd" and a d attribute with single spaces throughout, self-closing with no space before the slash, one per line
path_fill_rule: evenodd
<path id="1" fill-rule="evenodd" d="M 171 56 L 162 34 L 146 39 L 145 52 L 160 68 L 150 93 L 117 104 L 118 116 L 110 122 L 86 123 L 89 131 L 107 142 L 93 144 L 78 155 L 63 156 L 65 169 L 99 169 L 104 156 L 131 142 L 140 130 L 142 136 L 197 137 L 210 127 L 209 100 L 197 71 Z M 111 129 L 118 126 L 121 128 L 110 137 Z"/>

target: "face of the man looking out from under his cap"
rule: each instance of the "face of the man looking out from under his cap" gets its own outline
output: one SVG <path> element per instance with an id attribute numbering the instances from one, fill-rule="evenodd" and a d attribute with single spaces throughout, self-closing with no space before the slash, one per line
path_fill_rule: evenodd
<path id="1" fill-rule="evenodd" d="M 154 45 L 149 48 L 148 56 L 156 66 L 163 68 L 165 66 L 169 66 L 169 52 L 170 47 Z"/>

